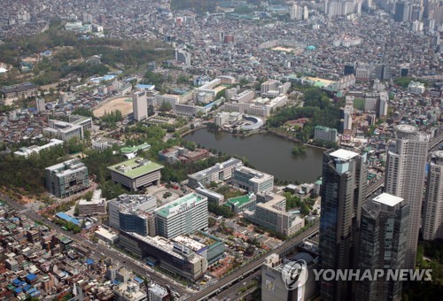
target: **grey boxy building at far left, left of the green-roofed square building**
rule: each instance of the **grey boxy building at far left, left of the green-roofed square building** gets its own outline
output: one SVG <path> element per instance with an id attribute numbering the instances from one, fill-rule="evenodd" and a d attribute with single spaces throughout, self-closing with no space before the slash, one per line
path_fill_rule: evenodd
<path id="1" fill-rule="evenodd" d="M 45 168 L 46 188 L 56 197 L 69 197 L 89 187 L 88 167 L 73 158 Z"/>

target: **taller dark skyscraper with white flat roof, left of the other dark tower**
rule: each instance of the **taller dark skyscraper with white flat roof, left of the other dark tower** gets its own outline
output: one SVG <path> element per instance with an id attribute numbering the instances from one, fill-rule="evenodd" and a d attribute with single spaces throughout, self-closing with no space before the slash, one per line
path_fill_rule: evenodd
<path id="1" fill-rule="evenodd" d="M 357 232 L 367 176 L 366 154 L 346 150 L 323 154 L 319 244 L 323 269 L 356 266 Z M 354 294 L 353 282 L 322 281 L 320 286 L 323 300 L 346 300 Z"/>

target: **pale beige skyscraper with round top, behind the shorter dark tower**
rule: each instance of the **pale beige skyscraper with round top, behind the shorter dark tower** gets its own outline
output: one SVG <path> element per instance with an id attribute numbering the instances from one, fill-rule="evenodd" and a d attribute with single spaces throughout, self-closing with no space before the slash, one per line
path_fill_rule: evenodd
<path id="1" fill-rule="evenodd" d="M 385 169 L 385 192 L 402 197 L 410 206 L 405 268 L 414 268 L 423 204 L 424 169 L 429 135 L 411 125 L 394 127 L 396 138 L 389 144 Z"/>

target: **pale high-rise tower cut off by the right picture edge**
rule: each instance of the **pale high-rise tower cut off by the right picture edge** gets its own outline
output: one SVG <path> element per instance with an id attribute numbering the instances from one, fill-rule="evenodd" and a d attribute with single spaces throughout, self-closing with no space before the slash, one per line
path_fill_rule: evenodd
<path id="1" fill-rule="evenodd" d="M 431 153 L 424 197 L 423 238 L 443 238 L 443 151 Z"/>

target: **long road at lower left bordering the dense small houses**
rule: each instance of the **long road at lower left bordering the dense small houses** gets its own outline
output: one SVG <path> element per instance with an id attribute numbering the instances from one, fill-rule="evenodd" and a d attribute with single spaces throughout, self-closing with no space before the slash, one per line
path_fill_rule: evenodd
<path id="1" fill-rule="evenodd" d="M 36 212 L 33 212 L 31 210 L 27 210 L 27 208 L 23 205 L 20 205 L 18 202 L 13 200 L 11 197 L 5 196 L 3 193 L 0 192 L 0 198 L 4 200 L 8 205 L 12 206 L 12 208 L 16 209 L 17 211 L 21 212 L 21 214 L 24 214 L 27 216 L 29 220 L 39 221 L 42 224 L 46 224 L 51 228 L 56 229 L 59 233 L 62 233 L 63 235 L 71 238 L 75 243 L 79 243 L 83 247 L 89 249 L 90 251 L 93 251 L 95 255 L 101 256 L 102 258 L 109 258 L 113 259 L 113 262 L 120 263 L 120 266 L 124 266 L 132 271 L 134 273 L 141 275 L 142 277 L 151 278 L 153 282 L 157 282 L 159 285 L 163 285 L 164 283 L 169 284 L 171 287 L 175 289 L 180 295 L 189 294 L 189 292 L 186 289 L 183 289 L 182 286 L 177 285 L 176 282 L 171 282 L 170 279 L 168 279 L 166 276 L 154 273 L 151 268 L 148 268 L 145 266 L 142 262 L 137 261 L 135 259 L 131 259 L 125 255 L 122 255 L 119 251 L 115 251 L 113 249 L 110 249 L 104 245 L 97 244 L 97 243 L 91 243 L 88 240 L 85 240 L 82 236 L 77 236 L 72 234 L 71 232 L 67 232 L 60 228 L 57 224 L 53 223 L 51 220 L 47 220 L 41 215 L 38 215 Z"/>

